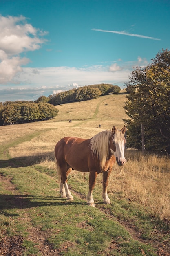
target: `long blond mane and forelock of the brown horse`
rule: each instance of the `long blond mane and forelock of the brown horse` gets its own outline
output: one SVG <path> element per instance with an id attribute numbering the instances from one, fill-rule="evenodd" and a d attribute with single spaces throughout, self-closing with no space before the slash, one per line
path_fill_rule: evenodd
<path id="1" fill-rule="evenodd" d="M 112 131 L 111 130 L 104 130 L 99 132 L 94 137 L 91 138 L 90 145 L 91 145 L 91 152 L 92 154 L 96 154 L 96 157 L 101 162 L 101 168 L 103 170 L 104 164 L 106 159 L 109 157 L 109 144 L 110 144 L 110 137 Z M 125 140 L 124 135 L 120 130 L 116 130 L 114 134 L 114 141 L 115 143 L 119 143 L 122 139 Z"/>

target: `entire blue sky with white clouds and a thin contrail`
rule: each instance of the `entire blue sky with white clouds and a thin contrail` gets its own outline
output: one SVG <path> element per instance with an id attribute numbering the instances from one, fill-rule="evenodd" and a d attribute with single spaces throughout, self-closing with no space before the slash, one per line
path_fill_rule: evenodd
<path id="1" fill-rule="evenodd" d="M 125 88 L 170 50 L 170 0 L 0 0 L 0 102 Z"/>

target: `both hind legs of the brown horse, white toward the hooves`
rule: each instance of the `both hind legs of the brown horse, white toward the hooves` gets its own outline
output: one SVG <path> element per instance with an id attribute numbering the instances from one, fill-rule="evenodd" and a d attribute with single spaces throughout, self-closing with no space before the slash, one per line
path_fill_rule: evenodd
<path id="1" fill-rule="evenodd" d="M 68 200 L 73 200 L 73 195 L 71 195 L 71 192 L 68 189 L 68 184 L 67 184 L 67 176 L 71 172 L 71 168 L 68 168 L 68 170 L 65 172 L 62 171 L 60 168 L 60 177 L 61 177 L 61 182 L 60 182 L 60 193 L 62 198 L 67 198 Z"/>

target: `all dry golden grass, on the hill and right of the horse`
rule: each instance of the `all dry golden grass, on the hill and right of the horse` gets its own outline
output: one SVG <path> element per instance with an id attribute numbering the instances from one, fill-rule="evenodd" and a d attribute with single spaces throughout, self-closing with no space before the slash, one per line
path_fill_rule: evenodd
<path id="1" fill-rule="evenodd" d="M 122 107 L 124 101 L 122 94 L 57 106 L 59 115 L 54 120 L 0 127 L 0 143 L 9 143 L 18 137 L 51 128 L 30 141 L 10 148 L 9 152 L 12 158 L 24 157 L 28 164 L 39 164 L 54 170 L 54 147 L 59 139 L 65 136 L 90 138 L 102 130 L 111 129 L 113 125 L 122 128 L 121 119 L 126 118 Z M 72 123 L 62 121 L 68 119 L 72 119 Z M 113 167 L 109 193 L 146 205 L 152 215 L 170 222 L 170 158 L 144 155 L 137 150 L 127 150 L 125 156 L 127 162 L 124 166 L 115 164 Z M 76 171 L 72 175 L 76 175 Z M 101 178 L 102 175 L 99 175 L 97 182 Z"/>

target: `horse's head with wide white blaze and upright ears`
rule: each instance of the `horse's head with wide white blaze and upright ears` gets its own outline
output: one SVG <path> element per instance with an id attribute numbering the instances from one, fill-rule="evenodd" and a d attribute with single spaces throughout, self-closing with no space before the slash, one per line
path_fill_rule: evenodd
<path id="1" fill-rule="evenodd" d="M 121 130 L 117 130 L 115 126 L 112 128 L 110 151 L 115 156 L 118 165 L 123 165 L 126 162 L 124 157 L 125 132 L 126 126 Z"/>

